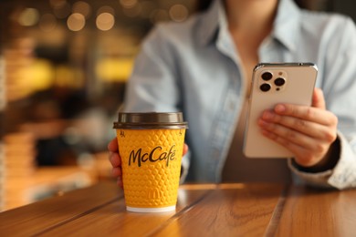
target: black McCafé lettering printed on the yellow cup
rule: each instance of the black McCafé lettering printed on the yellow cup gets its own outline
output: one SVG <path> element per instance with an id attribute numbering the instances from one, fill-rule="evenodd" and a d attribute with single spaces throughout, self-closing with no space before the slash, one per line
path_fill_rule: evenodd
<path id="1" fill-rule="evenodd" d="M 144 162 L 157 162 L 164 160 L 166 166 L 169 166 L 170 161 L 175 159 L 175 145 L 171 147 L 171 149 L 167 152 L 162 150 L 162 147 L 158 146 L 151 150 L 151 152 L 146 152 L 142 154 L 142 149 L 138 149 L 137 151 L 131 150 L 129 157 L 129 166 L 137 163 L 138 167 L 141 167 L 141 164 Z"/>

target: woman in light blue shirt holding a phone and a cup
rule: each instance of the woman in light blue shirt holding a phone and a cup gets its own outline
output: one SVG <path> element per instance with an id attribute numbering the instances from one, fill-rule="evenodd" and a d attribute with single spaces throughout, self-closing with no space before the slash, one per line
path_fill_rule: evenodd
<path id="1" fill-rule="evenodd" d="M 189 122 L 187 180 L 284 181 L 356 186 L 356 29 L 350 18 L 310 13 L 291 0 L 215 0 L 183 24 L 157 26 L 142 44 L 126 111 L 182 110 Z M 246 97 L 258 62 L 314 62 L 311 107 L 277 105 L 258 121 L 292 160 L 247 159 Z M 325 98 L 324 98 L 325 95 Z M 339 122 L 338 122 L 339 120 Z M 116 139 L 109 144 L 120 182 Z"/>

